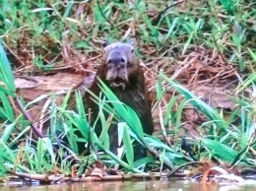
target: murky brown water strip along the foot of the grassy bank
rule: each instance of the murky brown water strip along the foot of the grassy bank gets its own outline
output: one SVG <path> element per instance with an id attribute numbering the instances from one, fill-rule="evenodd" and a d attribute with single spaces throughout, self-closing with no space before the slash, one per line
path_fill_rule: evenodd
<path id="1" fill-rule="evenodd" d="M 0 191 L 254 191 L 255 186 L 217 185 L 182 181 L 112 181 L 61 185 L 0 186 Z"/>

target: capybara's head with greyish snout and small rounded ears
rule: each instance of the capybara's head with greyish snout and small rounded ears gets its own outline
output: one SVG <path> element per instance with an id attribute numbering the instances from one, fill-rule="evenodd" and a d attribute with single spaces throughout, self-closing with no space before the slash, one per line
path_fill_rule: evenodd
<path id="1" fill-rule="evenodd" d="M 106 65 L 105 80 L 113 88 L 125 88 L 129 83 L 129 74 L 138 67 L 138 61 L 134 54 L 134 39 L 130 42 L 105 41 L 104 64 Z"/>

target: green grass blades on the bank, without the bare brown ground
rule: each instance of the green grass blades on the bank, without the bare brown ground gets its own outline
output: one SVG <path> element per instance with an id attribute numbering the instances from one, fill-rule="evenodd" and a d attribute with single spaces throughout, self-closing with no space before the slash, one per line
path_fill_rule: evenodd
<path id="1" fill-rule="evenodd" d="M 160 168 L 163 162 L 175 167 L 193 160 L 184 155 L 179 137 L 187 105 L 193 105 L 207 118 L 197 127 L 201 136 L 198 139 L 188 137 L 194 158 L 214 157 L 229 164 L 255 166 L 255 3 L 252 0 L 184 1 L 160 14 L 168 6 L 162 1 L 134 0 L 132 4 L 121 0 L 100 2 L 100 5 L 96 0 L 0 2 L 0 81 L 4 85 L 0 86 L 0 175 L 11 169 L 45 173 L 54 166 L 58 166 L 61 173 L 70 173 L 71 162 L 64 153 L 74 156 L 78 150 L 77 142 L 89 140 L 94 149 L 90 149 L 91 155 L 82 158 L 81 163 L 85 164 L 89 159 L 90 167 L 96 159 L 109 166 L 117 162 L 133 172 L 145 171 L 146 163 L 156 168 Z M 85 58 L 93 59 L 83 66 L 91 70 L 100 61 L 96 57 L 102 53 L 100 40 L 123 40 L 126 36 L 137 38 L 136 54 L 157 73 L 155 105 L 160 105 L 169 90 L 178 93 L 166 103 L 166 109 L 158 119 L 171 128 L 162 129 L 158 137 L 145 136 L 136 113 L 102 85 L 102 92 L 113 101 L 115 110 L 107 106 L 107 100 L 96 97 L 100 108 L 98 120 L 104 124 L 99 137 L 88 123 L 89 116 L 85 113 L 81 95 L 76 93 L 77 112 L 68 108 L 69 94 L 61 105 L 57 105 L 56 97 L 52 96 L 49 136 L 34 141 L 28 135 L 31 122 L 24 113 L 17 114 L 12 104 L 20 101 L 24 108 L 31 104 L 17 96 L 12 71 L 19 75 L 45 74 L 57 71 L 57 67 L 77 65 Z M 170 68 L 200 46 L 218 52 L 224 64 L 236 67 L 242 76 L 236 95 L 230 97 L 238 106 L 230 111 L 229 120 L 224 119 L 224 110 L 210 106 L 179 82 L 170 79 Z M 22 72 L 21 68 L 24 68 Z M 244 92 L 248 89 L 251 90 L 249 96 Z M 180 97 L 183 100 L 178 103 Z M 109 151 L 109 135 L 105 133 L 109 119 L 104 118 L 103 110 L 126 122 L 120 124 L 118 130 L 119 139 L 123 140 L 126 148 L 124 155 L 127 161 Z M 67 135 L 70 142 L 68 148 L 63 146 L 57 152 L 54 147 L 60 138 L 54 133 L 56 131 L 63 132 L 61 136 Z M 78 139 L 75 131 L 82 132 L 83 138 Z M 174 143 L 165 143 L 162 135 L 173 138 Z M 160 155 L 134 161 L 131 145 L 134 140 Z M 97 156 L 99 150 L 103 153 Z"/>

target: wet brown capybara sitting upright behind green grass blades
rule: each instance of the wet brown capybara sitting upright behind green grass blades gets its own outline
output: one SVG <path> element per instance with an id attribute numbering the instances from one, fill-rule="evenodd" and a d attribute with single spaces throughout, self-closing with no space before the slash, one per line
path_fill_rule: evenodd
<path id="1" fill-rule="evenodd" d="M 102 62 L 97 69 L 96 77 L 98 77 L 120 101 L 132 107 L 138 114 L 142 123 L 143 130 L 146 134 L 152 135 L 154 130 L 153 118 L 151 113 L 151 101 L 148 89 L 145 85 L 143 71 L 133 52 L 133 44 L 114 42 L 106 44 L 104 47 L 104 55 Z M 95 78 L 90 90 L 99 96 L 100 89 L 98 80 Z M 87 94 L 87 107 L 92 111 L 92 123 L 94 124 L 98 114 L 98 105 Z M 100 133 L 100 122 L 96 124 L 96 132 Z M 109 129 L 110 150 L 116 154 L 117 150 L 117 128 L 111 125 Z M 142 155 L 142 148 L 137 147 L 136 156 Z M 136 157 L 135 156 L 135 157 Z M 140 157 L 139 157 L 140 156 Z"/>

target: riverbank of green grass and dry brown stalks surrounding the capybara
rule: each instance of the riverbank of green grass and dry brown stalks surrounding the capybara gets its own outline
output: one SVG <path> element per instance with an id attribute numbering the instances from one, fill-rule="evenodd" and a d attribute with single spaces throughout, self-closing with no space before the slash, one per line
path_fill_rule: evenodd
<path id="1" fill-rule="evenodd" d="M 255 2 L 2 0 L 0 6 L 0 181 L 255 176 Z M 138 113 L 100 83 L 98 135 L 83 97 L 93 95 L 88 89 L 104 39 L 131 37 L 155 132 L 144 134 Z M 119 155 L 109 146 L 113 119 Z M 135 160 L 135 141 L 147 157 Z"/>

